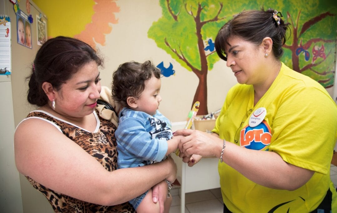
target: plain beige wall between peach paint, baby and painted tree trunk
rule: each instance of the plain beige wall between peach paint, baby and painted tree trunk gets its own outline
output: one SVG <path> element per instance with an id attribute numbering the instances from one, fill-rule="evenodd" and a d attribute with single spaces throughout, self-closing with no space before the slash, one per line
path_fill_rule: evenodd
<path id="1" fill-rule="evenodd" d="M 98 44 L 105 57 L 105 69 L 101 71 L 102 85 L 110 87 L 113 71 L 126 61 L 151 60 L 155 65 L 164 61 L 165 67 L 171 62 L 176 73 L 162 78 L 160 93 L 163 100 L 159 110 L 173 122 L 185 120 L 191 109 L 198 79 L 147 37 L 148 29 L 161 16 L 159 3 L 153 0 L 123 0 L 117 3 L 120 6 L 120 12 L 116 13 L 118 24 L 113 25 L 112 32 L 106 35 L 106 45 Z M 236 82 L 232 71 L 223 61 L 214 65 L 208 74 L 209 112 L 221 108 L 227 91 Z"/>

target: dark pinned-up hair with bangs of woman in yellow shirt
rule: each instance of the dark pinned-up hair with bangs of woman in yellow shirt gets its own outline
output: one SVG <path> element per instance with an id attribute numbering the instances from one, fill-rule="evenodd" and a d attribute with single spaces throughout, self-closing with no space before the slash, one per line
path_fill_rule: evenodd
<path id="1" fill-rule="evenodd" d="M 228 39 L 232 36 L 238 36 L 255 45 L 261 44 L 265 37 L 270 37 L 273 40 L 272 51 L 275 58 L 279 60 L 283 55 L 282 45 L 286 42 L 285 33 L 290 24 L 280 19 L 280 25 L 278 25 L 273 18 L 274 12 L 274 9 L 269 8 L 265 11 L 262 7 L 261 10 L 247 10 L 236 14 L 221 27 L 215 38 L 215 50 L 218 56 L 227 61 L 224 49 L 225 45 L 229 45 Z"/>

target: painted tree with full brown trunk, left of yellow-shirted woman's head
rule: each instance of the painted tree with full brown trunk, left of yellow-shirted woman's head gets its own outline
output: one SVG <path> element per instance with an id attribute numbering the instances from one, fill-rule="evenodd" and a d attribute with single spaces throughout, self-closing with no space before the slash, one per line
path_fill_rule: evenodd
<path id="1" fill-rule="evenodd" d="M 229 16 L 239 12 L 245 5 L 249 4 L 238 3 Z M 228 12 L 221 1 L 160 0 L 160 6 L 162 17 L 153 23 L 148 37 L 198 77 L 193 103 L 201 103 L 198 114 L 208 114 L 207 73 L 219 60 L 212 42 L 224 25 Z"/>

